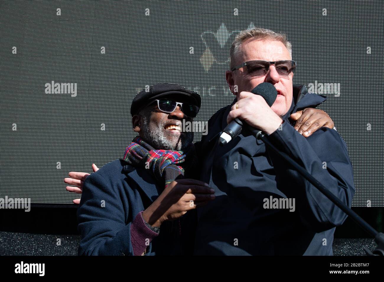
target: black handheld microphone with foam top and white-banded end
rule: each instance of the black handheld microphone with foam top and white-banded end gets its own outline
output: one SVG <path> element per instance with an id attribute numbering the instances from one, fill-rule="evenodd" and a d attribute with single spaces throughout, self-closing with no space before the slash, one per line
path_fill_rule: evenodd
<path id="1" fill-rule="evenodd" d="M 277 97 L 276 88 L 268 82 L 260 83 L 258 86 L 253 88 L 251 92 L 253 94 L 262 96 L 265 99 L 268 106 L 270 107 L 272 107 Z M 235 139 L 236 136 L 240 134 L 242 127 L 243 127 L 243 121 L 241 119 L 236 118 L 232 120 L 225 127 L 223 133 L 220 135 L 220 138 L 218 139 L 218 143 L 220 144 L 220 146 L 224 146 L 227 143 L 229 143 L 232 139 Z"/>

